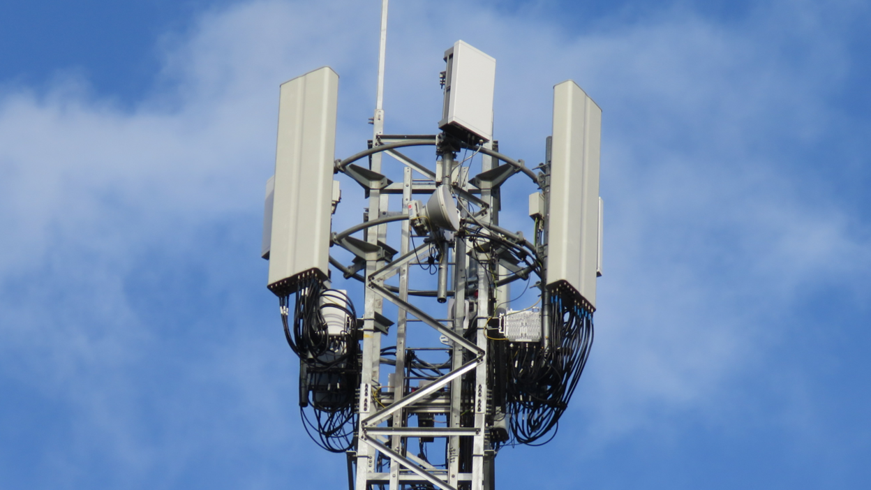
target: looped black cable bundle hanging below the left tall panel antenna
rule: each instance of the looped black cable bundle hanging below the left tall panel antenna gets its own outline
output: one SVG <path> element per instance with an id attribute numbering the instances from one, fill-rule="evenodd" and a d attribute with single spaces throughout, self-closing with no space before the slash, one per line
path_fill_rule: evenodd
<path id="1" fill-rule="evenodd" d="M 314 276 L 303 279 L 294 295 L 293 320 L 291 295 L 280 296 L 280 308 L 287 344 L 300 357 L 303 425 L 318 446 L 342 453 L 354 445 L 357 425 L 361 368 L 354 305 L 344 292 L 324 288 Z M 341 332 L 330 335 L 325 315 L 344 319 Z"/>

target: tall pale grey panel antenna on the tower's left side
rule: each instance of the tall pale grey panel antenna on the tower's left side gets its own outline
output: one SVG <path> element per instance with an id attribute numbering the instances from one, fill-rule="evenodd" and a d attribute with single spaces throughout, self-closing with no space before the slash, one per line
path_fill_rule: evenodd
<path id="1" fill-rule="evenodd" d="M 339 75 L 325 66 L 281 85 L 269 289 L 327 279 Z"/>

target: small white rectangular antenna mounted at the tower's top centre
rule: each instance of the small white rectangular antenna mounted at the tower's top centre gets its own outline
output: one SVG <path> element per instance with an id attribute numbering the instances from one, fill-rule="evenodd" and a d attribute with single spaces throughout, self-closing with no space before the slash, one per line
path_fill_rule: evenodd
<path id="1" fill-rule="evenodd" d="M 472 135 L 475 139 L 490 141 L 493 138 L 496 59 L 457 41 L 444 51 L 444 60 L 448 66 L 439 129 L 459 133 L 463 140 Z"/>

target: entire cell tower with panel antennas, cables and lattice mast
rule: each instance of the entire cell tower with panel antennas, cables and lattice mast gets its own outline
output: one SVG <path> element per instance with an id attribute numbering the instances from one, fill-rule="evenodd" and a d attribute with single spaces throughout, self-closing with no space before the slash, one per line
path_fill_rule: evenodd
<path id="1" fill-rule="evenodd" d="M 444 53 L 440 133 L 385 134 L 387 3 L 366 149 L 334 160 L 332 69 L 280 87 L 268 288 L 300 357 L 303 424 L 347 454 L 351 490 L 492 489 L 501 446 L 553 437 L 590 353 L 601 110 L 573 81 L 554 86 L 544 163 L 527 167 L 493 140 L 496 60 L 457 41 Z M 410 158 L 412 146 L 431 146 L 434 165 Z M 337 174 L 368 206 L 340 205 Z M 531 241 L 499 225 L 503 197 L 518 201 L 501 193 L 515 176 L 534 191 Z M 360 224 L 331 227 L 361 208 Z M 336 275 L 359 291 L 331 289 Z M 510 310 L 516 281 L 537 290 L 537 307 Z"/>

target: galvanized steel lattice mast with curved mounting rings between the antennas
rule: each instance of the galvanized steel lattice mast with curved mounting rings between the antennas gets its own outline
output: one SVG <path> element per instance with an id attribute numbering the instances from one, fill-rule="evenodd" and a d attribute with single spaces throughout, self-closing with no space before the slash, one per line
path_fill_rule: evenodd
<path id="1" fill-rule="evenodd" d="M 458 196 L 467 220 L 492 230 L 491 233 L 498 233 L 504 231 L 498 227 L 498 186 L 505 178 L 518 172 L 530 174 L 532 177 L 535 175 L 523 167 L 522 160 L 512 160 L 497 153 L 488 143 L 472 146 L 473 151 L 483 153 L 483 157 L 481 174 L 473 179 L 477 185 L 470 184 L 468 172 L 456 171 L 458 164 L 454 151 L 457 148 L 451 147 L 452 144 L 456 145 L 456 141 L 451 143 L 442 135 L 385 136 L 379 133 L 379 122 L 376 116 L 375 140 L 371 142 L 368 151 L 347 160 L 337 160 L 335 165 L 338 172 L 351 175 L 366 187 L 369 206 L 368 221 L 363 224 L 370 225 L 366 234 L 368 254 L 359 246 L 348 246 L 350 244 L 344 242 L 343 238 L 349 235 L 347 232 L 334 235 L 334 243 L 367 258 L 365 276 L 356 275 L 365 284 L 365 313 L 362 326 L 360 421 L 356 433 L 358 444 L 356 451 L 349 453 L 349 464 L 354 462 L 356 466 L 354 485 L 357 490 L 366 490 L 374 483 L 388 483 L 391 490 L 398 489 L 403 484 L 420 483 L 429 483 L 446 490 L 458 487 L 473 490 L 491 488 L 495 454 L 490 450 L 490 433 L 486 421 L 490 393 L 486 330 L 488 320 L 494 316 L 493 309 L 498 292 L 492 287 L 490 278 L 498 276 L 500 271 L 490 270 L 492 264 L 496 263 L 492 260 L 490 251 L 476 250 L 472 254 L 468 253 L 472 246 L 462 231 L 438 241 L 436 246 L 442 249 L 438 281 L 440 287 L 423 294 L 441 296 L 447 293 L 447 296 L 453 297 L 453 301 L 449 303 L 452 307 L 447 316 L 449 321 L 433 318 L 409 298 L 409 266 L 419 262 L 422 249 L 432 244 L 424 243 L 416 249 L 413 248 L 411 236 L 414 230 L 409 224 L 406 210 L 415 194 L 432 194 L 437 186 L 446 185 L 451 187 L 452 194 Z M 436 147 L 436 153 L 440 156 L 437 165 L 441 168 L 429 169 L 397 149 L 402 146 L 424 145 Z M 388 183 L 383 176 L 383 153 L 394 157 L 395 161 L 392 163 L 404 164 L 402 183 Z M 364 157 L 369 159 L 365 178 L 361 175 L 360 167 L 354 167 L 353 164 L 355 160 Z M 503 166 L 499 166 L 500 159 L 505 162 Z M 421 174 L 422 180 L 413 179 L 413 171 Z M 391 195 L 402 196 L 402 210 L 389 208 Z M 384 244 L 388 242 L 387 224 L 390 221 L 402 221 L 400 250 L 393 260 L 385 260 L 391 258 L 384 252 Z M 449 255 L 452 255 L 452 261 Z M 346 276 L 354 276 L 354 271 L 338 260 L 331 259 L 331 262 Z M 474 274 L 469 274 L 470 271 Z M 385 284 L 385 281 L 395 275 L 399 276 L 398 291 L 390 290 Z M 439 290 L 443 289 L 448 276 L 453 282 L 451 290 Z M 384 359 L 381 358 L 381 332 L 384 330 L 384 322 L 380 317 L 384 300 L 394 303 L 398 308 L 395 324 L 395 369 L 391 387 L 382 386 L 380 382 L 382 365 L 389 365 L 382 364 Z M 410 391 L 413 387 L 405 379 L 406 352 L 407 349 L 413 351 L 410 350 L 412 347 L 420 349 L 427 346 L 407 345 L 409 316 L 435 329 L 449 339 L 450 345 L 450 370 L 415 391 Z M 437 347 L 443 345 L 439 344 Z M 470 406 L 466 410 L 474 413 L 474 422 L 471 425 L 468 421 L 466 424 L 461 423 L 464 406 Z M 415 413 L 443 414 L 446 418 L 445 426 L 409 426 L 409 416 Z M 407 449 L 410 438 L 447 439 L 447 466 L 437 468 L 414 453 L 409 453 Z M 465 448 L 461 447 L 462 439 L 471 439 L 470 451 L 468 443 Z M 376 467 L 379 457 L 389 459 L 389 471 L 379 471 Z"/>

